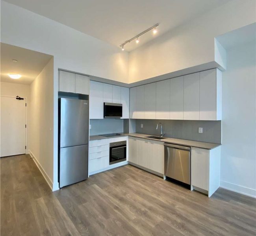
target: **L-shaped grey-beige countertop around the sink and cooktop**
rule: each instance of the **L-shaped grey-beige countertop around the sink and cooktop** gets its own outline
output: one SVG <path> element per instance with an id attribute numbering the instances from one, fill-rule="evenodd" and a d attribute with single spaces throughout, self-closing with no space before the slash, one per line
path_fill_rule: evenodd
<path id="1" fill-rule="evenodd" d="M 130 134 L 123 134 L 123 135 L 137 137 L 137 138 L 145 138 L 145 139 L 156 141 L 156 139 L 154 139 L 154 138 L 146 138 L 147 136 L 150 136 L 150 135 L 145 135 L 145 134 L 130 133 Z M 123 137 L 123 136 L 121 136 L 121 137 Z M 106 139 L 106 138 L 113 138 L 113 137 L 104 137 L 104 136 L 100 136 L 100 135 L 90 136 L 90 140 L 101 140 L 101 139 Z M 188 146 L 188 147 L 199 147 L 199 148 L 204 148 L 204 149 L 213 149 L 213 148 L 221 145 L 221 144 L 213 144 L 213 143 L 208 143 L 208 142 L 198 142 L 198 141 L 178 139 L 178 138 L 168 138 L 168 137 L 164 138 L 164 139 L 157 140 L 157 141 L 167 142 L 167 143 L 171 143 L 171 144 L 178 144 L 178 145 L 183 145 L 183 146 Z"/>

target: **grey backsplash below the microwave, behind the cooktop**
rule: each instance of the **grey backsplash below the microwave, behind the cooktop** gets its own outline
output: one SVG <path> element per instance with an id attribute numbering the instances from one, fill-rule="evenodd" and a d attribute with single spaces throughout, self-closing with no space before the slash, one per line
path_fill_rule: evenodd
<path id="1" fill-rule="evenodd" d="M 120 118 L 104 118 L 90 120 L 90 135 L 103 135 L 111 133 L 123 133 L 124 123 Z"/>

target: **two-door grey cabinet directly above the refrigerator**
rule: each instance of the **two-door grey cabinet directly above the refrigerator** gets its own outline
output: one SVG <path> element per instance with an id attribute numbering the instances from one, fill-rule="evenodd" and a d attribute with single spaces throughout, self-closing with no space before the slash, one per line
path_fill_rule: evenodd
<path id="1" fill-rule="evenodd" d="M 89 94 L 89 76 L 59 70 L 59 91 Z"/>

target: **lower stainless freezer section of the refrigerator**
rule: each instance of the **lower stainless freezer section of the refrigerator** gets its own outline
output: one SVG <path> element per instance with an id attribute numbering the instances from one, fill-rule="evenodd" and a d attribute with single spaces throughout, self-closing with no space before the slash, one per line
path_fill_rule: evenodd
<path id="1" fill-rule="evenodd" d="M 62 147 L 59 157 L 59 187 L 88 177 L 88 145 Z"/>

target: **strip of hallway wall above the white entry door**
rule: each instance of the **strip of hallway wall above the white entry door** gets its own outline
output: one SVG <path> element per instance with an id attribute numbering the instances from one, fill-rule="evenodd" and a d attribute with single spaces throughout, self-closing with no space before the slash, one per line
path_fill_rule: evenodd
<path id="1" fill-rule="evenodd" d="M 30 86 L 17 83 L 1 82 L 1 96 L 30 97 Z"/>

